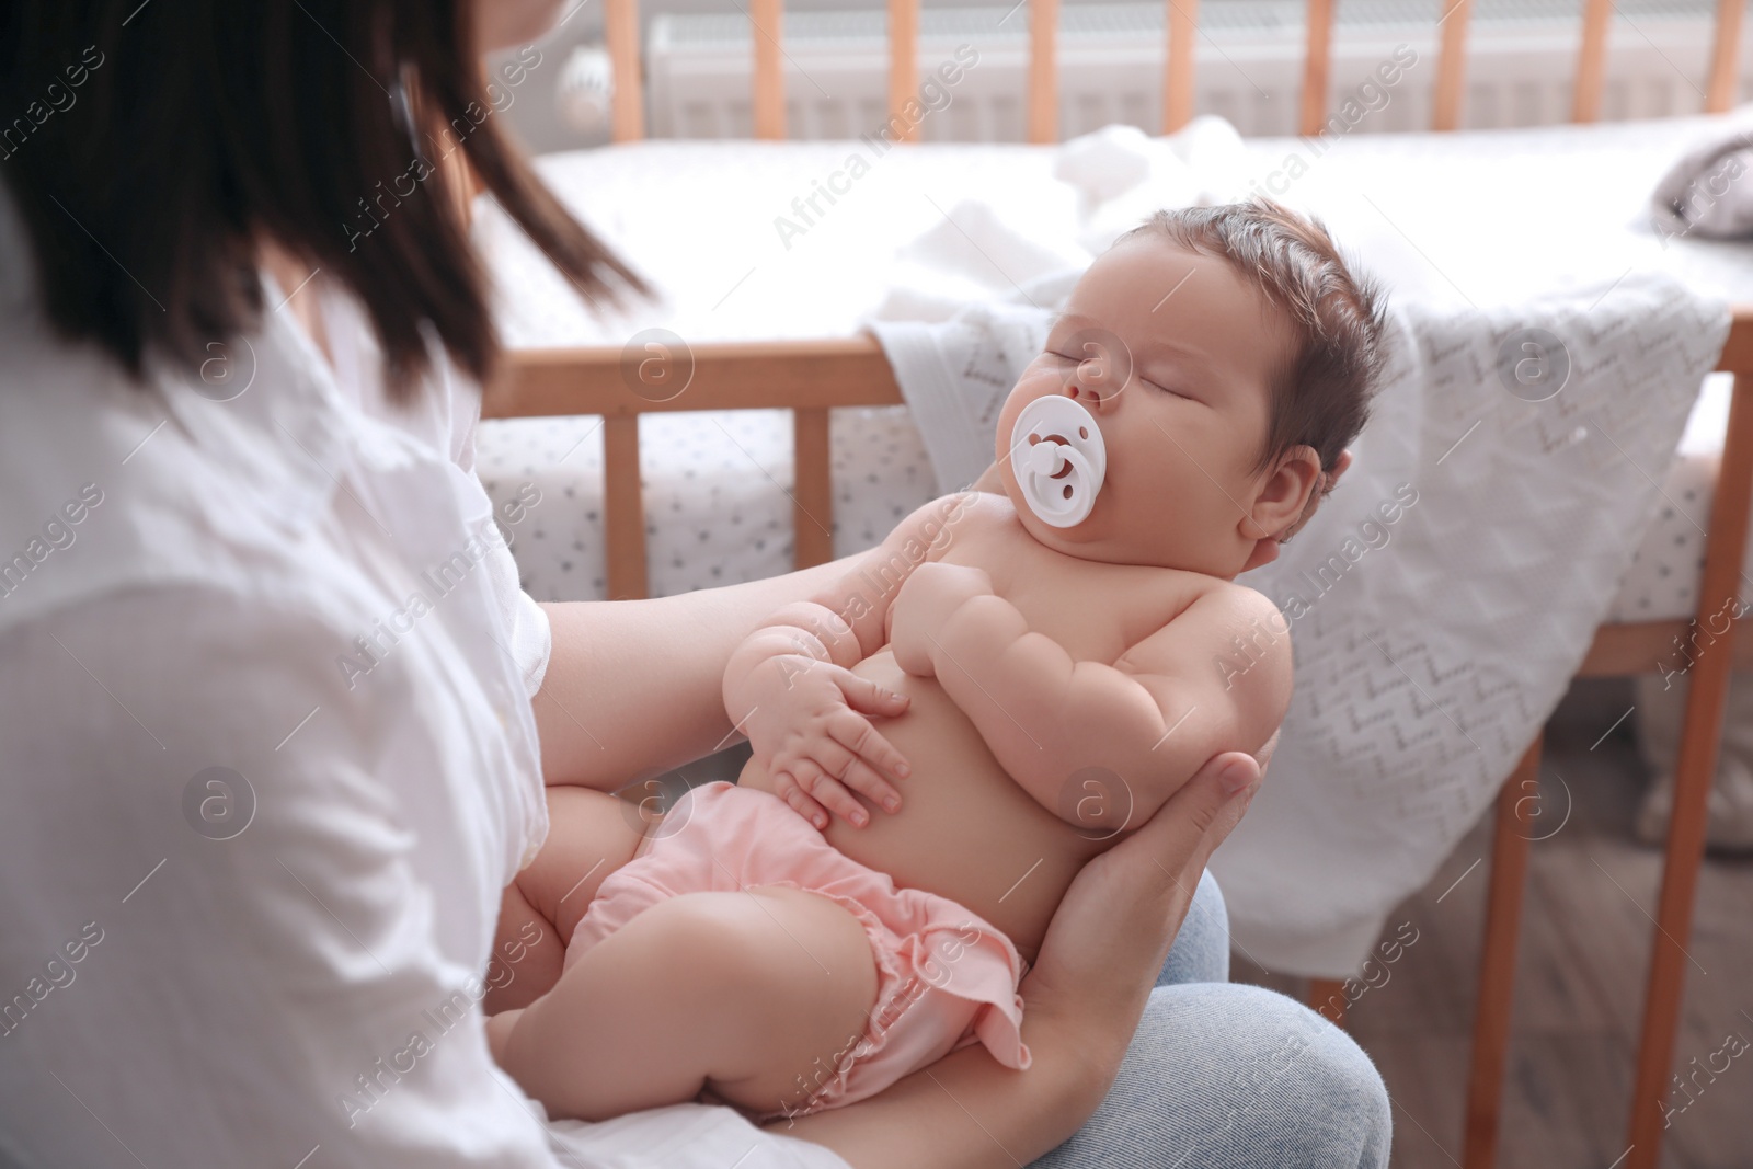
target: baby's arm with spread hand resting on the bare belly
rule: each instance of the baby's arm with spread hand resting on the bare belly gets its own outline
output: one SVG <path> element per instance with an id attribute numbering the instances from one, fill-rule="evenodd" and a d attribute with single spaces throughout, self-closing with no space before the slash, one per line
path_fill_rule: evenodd
<path id="1" fill-rule="evenodd" d="M 833 587 L 778 610 L 731 654 L 724 710 L 778 792 L 817 827 L 827 827 L 829 811 L 868 822 L 847 789 L 899 808 L 884 771 L 905 776 L 906 761 L 866 715 L 899 715 L 906 699 L 852 668 L 882 648 L 891 601 L 915 568 L 943 554 L 966 505 L 966 496 L 943 496 L 919 508 Z"/>

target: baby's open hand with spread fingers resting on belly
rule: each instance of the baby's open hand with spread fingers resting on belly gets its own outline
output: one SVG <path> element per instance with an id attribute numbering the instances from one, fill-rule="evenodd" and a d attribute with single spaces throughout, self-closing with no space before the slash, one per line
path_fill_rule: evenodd
<path id="1" fill-rule="evenodd" d="M 906 759 L 866 715 L 903 713 L 905 694 L 806 654 L 770 657 L 756 675 L 759 701 L 743 720 L 743 733 L 775 790 L 798 815 L 819 829 L 827 827 L 829 813 L 864 827 L 869 813 L 854 790 L 889 811 L 901 806 L 901 794 L 884 771 L 906 778 Z"/>

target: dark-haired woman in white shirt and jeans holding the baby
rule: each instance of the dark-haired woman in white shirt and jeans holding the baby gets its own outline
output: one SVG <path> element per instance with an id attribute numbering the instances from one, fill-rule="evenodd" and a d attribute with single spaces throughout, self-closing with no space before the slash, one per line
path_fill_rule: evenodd
<path id="1" fill-rule="evenodd" d="M 1199 875 L 1246 755 L 1078 878 L 1024 983 L 1029 1073 L 969 1048 L 763 1132 L 694 1104 L 545 1125 L 491 1067 L 543 776 L 710 750 L 729 648 L 847 563 L 519 592 L 517 515 L 472 475 L 496 340 L 440 156 L 586 294 L 638 282 L 487 116 L 477 51 L 556 5 L 477 4 L 0 5 L 0 1162 L 1383 1164 L 1362 1053 L 1220 981 Z"/>

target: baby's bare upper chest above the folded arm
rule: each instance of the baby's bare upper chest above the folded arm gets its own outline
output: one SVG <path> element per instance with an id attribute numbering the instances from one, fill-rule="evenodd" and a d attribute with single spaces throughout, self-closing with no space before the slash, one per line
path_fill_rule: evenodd
<path id="1" fill-rule="evenodd" d="M 992 591 L 1017 606 L 1029 629 L 1057 641 L 1075 661 L 1113 662 L 1213 585 L 1199 573 L 1055 552 L 1015 519 L 987 519 L 941 559 L 985 570 Z"/>

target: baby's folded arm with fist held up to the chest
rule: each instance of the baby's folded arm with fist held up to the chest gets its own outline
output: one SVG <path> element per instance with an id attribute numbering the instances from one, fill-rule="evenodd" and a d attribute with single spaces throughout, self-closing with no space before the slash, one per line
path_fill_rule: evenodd
<path id="1" fill-rule="evenodd" d="M 1138 827 L 1206 759 L 1257 750 L 1285 717 L 1290 636 L 1253 589 L 1220 584 L 1110 666 L 1073 661 L 1010 601 L 950 580 L 968 571 L 941 573 L 947 615 L 933 636 L 898 619 L 896 661 L 934 673 L 999 766 L 1080 827 Z"/>

